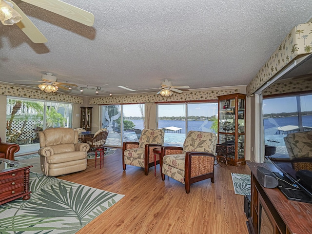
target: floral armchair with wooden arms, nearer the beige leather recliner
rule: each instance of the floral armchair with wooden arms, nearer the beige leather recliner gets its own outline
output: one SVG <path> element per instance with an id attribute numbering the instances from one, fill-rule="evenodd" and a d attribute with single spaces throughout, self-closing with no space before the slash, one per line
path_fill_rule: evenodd
<path id="1" fill-rule="evenodd" d="M 165 132 L 162 129 L 142 130 L 139 142 L 123 142 L 122 145 L 122 167 L 126 170 L 126 164 L 144 168 L 148 175 L 150 167 L 154 166 L 154 148 L 162 147 Z M 159 164 L 159 156 L 156 158 Z"/>

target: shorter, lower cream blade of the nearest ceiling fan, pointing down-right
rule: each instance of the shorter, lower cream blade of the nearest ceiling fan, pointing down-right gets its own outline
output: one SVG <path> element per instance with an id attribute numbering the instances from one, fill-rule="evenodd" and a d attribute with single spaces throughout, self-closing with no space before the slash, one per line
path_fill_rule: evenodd
<path id="1" fill-rule="evenodd" d="M 43 36 L 43 34 L 39 31 L 39 29 L 29 20 L 29 18 L 20 10 L 20 7 L 11 0 L 7 0 L 14 5 L 14 10 L 20 13 L 21 17 L 23 18 L 20 22 L 17 23 L 21 31 L 23 31 L 26 36 L 31 39 L 34 43 L 45 43 L 48 40 Z"/>

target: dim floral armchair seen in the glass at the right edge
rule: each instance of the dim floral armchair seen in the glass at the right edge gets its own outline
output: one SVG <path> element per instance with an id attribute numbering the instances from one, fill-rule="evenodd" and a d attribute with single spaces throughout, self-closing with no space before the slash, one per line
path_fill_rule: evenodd
<path id="1" fill-rule="evenodd" d="M 312 131 L 290 133 L 284 141 L 292 168 L 312 171 Z"/>

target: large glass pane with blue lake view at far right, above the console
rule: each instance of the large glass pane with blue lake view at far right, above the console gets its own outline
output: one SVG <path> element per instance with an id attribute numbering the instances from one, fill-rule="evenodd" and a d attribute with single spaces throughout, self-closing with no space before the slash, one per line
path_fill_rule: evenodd
<path id="1" fill-rule="evenodd" d="M 286 157 L 284 137 L 312 130 L 312 95 L 263 98 L 265 156 Z"/>

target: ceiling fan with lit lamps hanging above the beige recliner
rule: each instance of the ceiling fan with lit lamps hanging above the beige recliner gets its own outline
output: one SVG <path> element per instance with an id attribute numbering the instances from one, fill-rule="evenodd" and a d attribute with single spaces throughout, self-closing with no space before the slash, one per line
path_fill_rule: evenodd
<path id="1" fill-rule="evenodd" d="M 47 93 L 55 93 L 58 89 L 71 90 L 70 86 L 78 87 L 76 84 L 57 82 L 57 78 L 53 76 L 52 73 L 46 73 L 41 76 L 42 80 L 17 80 L 17 81 L 30 81 L 30 82 L 39 82 L 39 89 Z M 66 87 L 68 86 L 68 87 Z"/>

